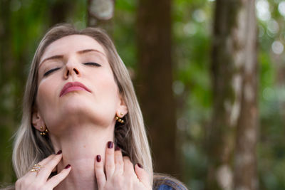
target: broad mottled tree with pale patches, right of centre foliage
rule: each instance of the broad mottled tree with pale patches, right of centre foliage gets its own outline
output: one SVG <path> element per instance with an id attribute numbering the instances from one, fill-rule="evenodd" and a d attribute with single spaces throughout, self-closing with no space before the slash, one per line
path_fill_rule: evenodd
<path id="1" fill-rule="evenodd" d="M 255 18 L 254 1 L 216 1 L 207 189 L 258 188 Z"/>

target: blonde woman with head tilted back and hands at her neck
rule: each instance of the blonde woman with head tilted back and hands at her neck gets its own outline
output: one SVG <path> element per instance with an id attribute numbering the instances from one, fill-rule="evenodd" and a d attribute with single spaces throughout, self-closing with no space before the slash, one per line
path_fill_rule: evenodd
<path id="1" fill-rule="evenodd" d="M 186 189 L 154 175 L 123 61 L 98 28 L 51 28 L 26 83 L 11 189 Z"/>

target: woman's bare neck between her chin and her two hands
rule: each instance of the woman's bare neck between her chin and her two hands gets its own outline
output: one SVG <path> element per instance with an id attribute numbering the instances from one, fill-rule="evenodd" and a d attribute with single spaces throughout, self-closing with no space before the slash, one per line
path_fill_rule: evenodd
<path id="1" fill-rule="evenodd" d="M 94 170 L 95 157 L 100 154 L 102 162 L 105 162 L 106 144 L 113 141 L 113 131 L 114 127 L 77 125 L 68 126 L 63 135 L 51 134 L 55 151 L 61 149 L 63 154 L 63 159 L 57 166 L 58 173 L 67 164 L 71 164 L 71 172 L 56 186 L 56 190 L 98 189 Z"/>

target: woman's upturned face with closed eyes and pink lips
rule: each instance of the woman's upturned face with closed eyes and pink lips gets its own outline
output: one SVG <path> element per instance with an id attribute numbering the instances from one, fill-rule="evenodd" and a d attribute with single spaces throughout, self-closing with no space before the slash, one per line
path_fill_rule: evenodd
<path id="1" fill-rule="evenodd" d="M 83 86 L 84 85 L 84 86 Z M 58 126 L 83 122 L 108 127 L 126 107 L 120 98 L 106 53 L 93 38 L 71 35 L 51 43 L 38 66 L 38 93 L 33 125 Z"/>

